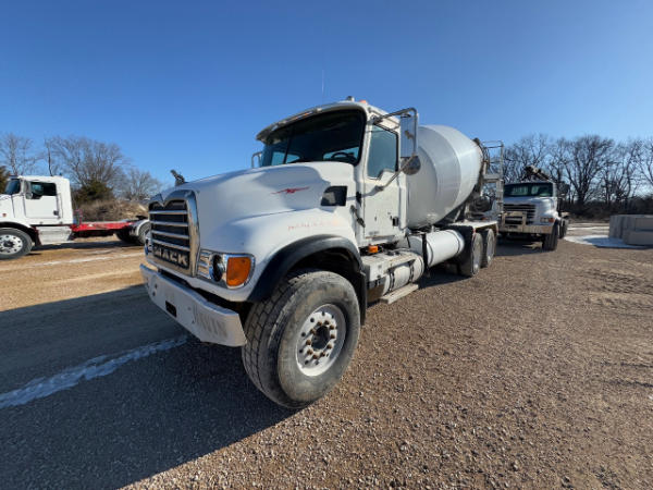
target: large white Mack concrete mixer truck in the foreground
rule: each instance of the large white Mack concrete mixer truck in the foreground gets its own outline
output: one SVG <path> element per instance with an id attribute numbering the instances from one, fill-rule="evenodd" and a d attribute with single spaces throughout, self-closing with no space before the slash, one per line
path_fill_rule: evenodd
<path id="1" fill-rule="evenodd" d="M 369 303 L 442 262 L 472 277 L 497 222 L 470 221 L 483 146 L 412 108 L 316 107 L 262 130 L 255 168 L 183 183 L 149 205 L 150 298 L 205 342 L 242 346 L 268 397 L 300 407 L 347 368 Z"/>

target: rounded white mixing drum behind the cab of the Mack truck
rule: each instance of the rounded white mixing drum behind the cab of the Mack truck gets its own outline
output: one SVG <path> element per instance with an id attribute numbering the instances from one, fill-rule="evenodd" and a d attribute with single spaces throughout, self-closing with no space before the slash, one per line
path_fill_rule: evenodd
<path id="1" fill-rule="evenodd" d="M 408 226 L 434 224 L 460 206 L 479 180 L 481 148 L 458 130 L 418 128 L 421 169 L 407 177 Z"/>

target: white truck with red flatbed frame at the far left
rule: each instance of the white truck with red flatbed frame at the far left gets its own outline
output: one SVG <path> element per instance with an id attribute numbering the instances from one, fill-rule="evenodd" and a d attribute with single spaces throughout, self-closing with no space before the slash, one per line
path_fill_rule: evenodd
<path id="1" fill-rule="evenodd" d="M 147 219 L 79 222 L 70 181 L 62 176 L 12 176 L 0 194 L 0 260 L 20 258 L 39 245 L 115 233 L 124 242 L 145 243 Z"/>

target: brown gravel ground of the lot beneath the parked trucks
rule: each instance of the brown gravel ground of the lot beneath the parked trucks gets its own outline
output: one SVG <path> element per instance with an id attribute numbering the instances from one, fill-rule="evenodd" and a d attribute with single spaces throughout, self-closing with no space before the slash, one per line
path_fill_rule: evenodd
<path id="1" fill-rule="evenodd" d="M 61 254 L 46 252 L 27 260 Z M 48 275 L 60 266 L 41 269 L 39 287 L 14 291 L 17 305 L 3 303 L 0 345 L 22 358 L 46 342 L 16 333 L 35 323 L 50 326 L 51 338 L 77 329 L 71 341 L 79 331 L 103 332 L 95 343 L 89 338 L 85 358 L 182 334 L 139 287 L 127 287 L 139 281 L 133 269 L 139 261 L 71 264 L 74 291 L 70 280 L 57 285 Z M 0 265 L 3 278 L 19 262 L 9 264 Z M 119 270 L 123 279 L 111 287 L 98 281 Z M 89 315 L 97 315 L 95 324 Z M 35 320 L 41 316 L 50 320 Z M 473 279 L 438 272 L 399 302 L 372 306 L 345 378 L 304 411 L 260 395 L 237 350 L 188 340 L 107 377 L 0 409 L 7 441 L 0 481 L 8 488 L 652 488 L 652 339 L 653 249 L 562 241 L 543 253 L 506 243 Z M 0 393 L 83 360 L 62 348 L 51 362 L 33 359 L 26 377 L 1 360 L 4 351 Z"/>

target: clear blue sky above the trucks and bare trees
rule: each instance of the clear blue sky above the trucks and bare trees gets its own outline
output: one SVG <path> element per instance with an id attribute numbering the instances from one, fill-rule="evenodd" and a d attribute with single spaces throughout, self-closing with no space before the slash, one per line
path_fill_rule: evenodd
<path id="1" fill-rule="evenodd" d="M 481 139 L 653 136 L 653 2 L 0 2 L 0 133 L 118 143 L 171 182 L 348 95 Z M 324 73 L 324 94 L 322 94 Z"/>

